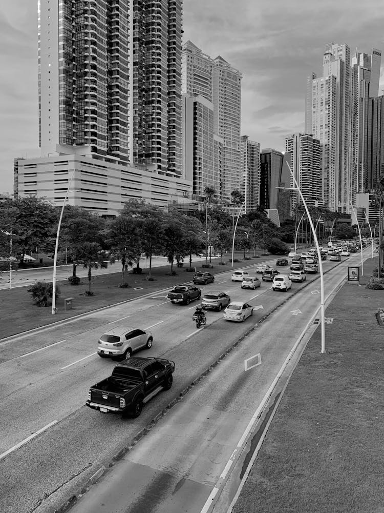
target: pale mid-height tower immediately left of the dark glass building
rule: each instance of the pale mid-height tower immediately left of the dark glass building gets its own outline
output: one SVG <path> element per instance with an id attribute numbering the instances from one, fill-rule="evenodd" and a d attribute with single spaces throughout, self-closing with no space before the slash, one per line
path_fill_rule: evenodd
<path id="1" fill-rule="evenodd" d="M 244 195 L 245 213 L 259 206 L 260 143 L 249 141 L 248 135 L 240 138 L 240 192 Z"/>

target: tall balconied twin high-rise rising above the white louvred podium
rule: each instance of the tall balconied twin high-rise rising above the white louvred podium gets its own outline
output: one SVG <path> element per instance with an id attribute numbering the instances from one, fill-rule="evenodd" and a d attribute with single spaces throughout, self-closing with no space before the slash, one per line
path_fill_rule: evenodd
<path id="1" fill-rule="evenodd" d="M 42 155 L 181 175 L 182 0 L 38 2 Z"/>

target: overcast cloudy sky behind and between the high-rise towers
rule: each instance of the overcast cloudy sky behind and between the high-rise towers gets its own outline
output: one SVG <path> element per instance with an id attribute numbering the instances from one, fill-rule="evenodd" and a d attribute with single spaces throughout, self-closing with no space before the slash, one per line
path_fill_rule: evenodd
<path id="1" fill-rule="evenodd" d="M 12 192 L 13 158 L 39 155 L 37 0 L 3 4 L 0 192 Z M 184 0 L 183 41 L 242 72 L 242 134 L 262 148 L 284 150 L 284 136 L 304 130 L 306 78 L 321 72 L 327 43 L 346 43 L 351 53 L 384 51 L 382 6 L 382 0 Z"/>

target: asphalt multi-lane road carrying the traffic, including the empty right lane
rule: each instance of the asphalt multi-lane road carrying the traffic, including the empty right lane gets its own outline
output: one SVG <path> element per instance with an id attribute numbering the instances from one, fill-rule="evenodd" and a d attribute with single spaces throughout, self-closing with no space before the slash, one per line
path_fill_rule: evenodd
<path id="1" fill-rule="evenodd" d="M 338 265 L 323 263 L 326 296 L 345 279 L 347 265 L 358 260 L 354 255 Z M 248 269 L 254 271 L 256 265 Z M 233 301 L 257 307 L 244 323 L 229 323 L 222 313 L 208 312 L 207 325 L 196 330 L 191 320 L 196 303 L 172 305 L 163 290 L 0 344 L 0 511 L 42 513 L 59 506 L 102 465 L 108 468 L 121 448 L 129 447 L 139 431 L 195 382 L 74 511 L 200 513 L 217 501 L 218 511 L 223 511 L 222 504 L 230 502 L 227 490 L 233 488 L 227 479 L 236 476 L 245 458 L 264 398 L 284 363 L 292 364 L 294 358 L 287 358 L 296 342 L 315 326 L 320 297 L 316 278 L 318 274 L 284 293 L 273 292 L 269 282 L 242 290 L 239 282 L 231 282 L 230 271 L 216 275 L 203 292 L 223 290 Z M 84 406 L 90 385 L 115 365 L 97 356 L 97 339 L 120 324 L 153 331 L 152 348 L 140 356 L 176 363 L 173 388 L 147 403 L 138 419 L 124 421 Z M 295 354 L 300 354 L 300 344 Z"/>

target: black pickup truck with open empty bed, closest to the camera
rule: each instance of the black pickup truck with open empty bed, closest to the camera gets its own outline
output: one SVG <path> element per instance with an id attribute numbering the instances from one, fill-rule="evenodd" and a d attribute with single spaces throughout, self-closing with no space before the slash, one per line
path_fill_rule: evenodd
<path id="1" fill-rule="evenodd" d="M 90 388 L 86 405 L 103 413 L 138 417 L 144 403 L 160 390 L 169 390 L 174 370 L 175 363 L 163 358 L 130 358 Z"/>

